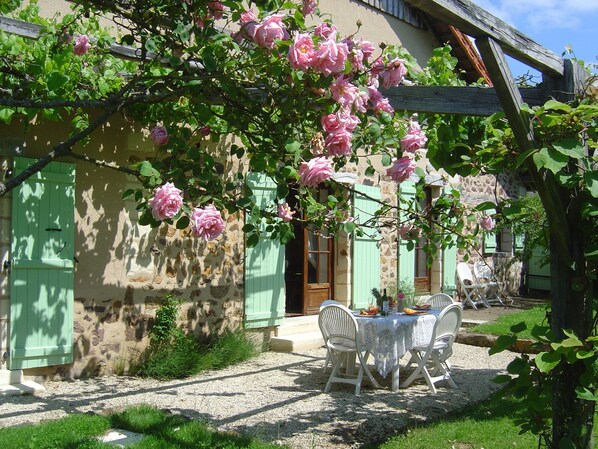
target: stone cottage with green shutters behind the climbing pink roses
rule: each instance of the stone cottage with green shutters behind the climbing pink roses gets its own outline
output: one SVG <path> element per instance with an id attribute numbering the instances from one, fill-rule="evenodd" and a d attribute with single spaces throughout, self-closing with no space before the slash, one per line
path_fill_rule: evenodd
<path id="1" fill-rule="evenodd" d="M 50 0 L 40 5 L 48 16 L 68 8 Z M 341 34 L 354 32 L 359 20 L 364 38 L 401 42 L 421 65 L 433 48 L 451 41 L 466 76 L 484 75 L 463 35 L 430 25 L 401 0 L 322 0 L 320 9 L 332 14 Z M 0 127 L 3 177 L 66 138 L 67 130 L 54 123 L 24 125 Z M 143 130 L 125 118 L 96 132 L 87 149 L 119 165 L 153 151 Z M 396 183 L 379 161 L 374 163 L 382 174 L 376 179 L 362 166 L 347 173 L 362 219 L 377 207 L 370 198 L 396 201 Z M 448 177 L 433 171 L 428 176 L 431 201 Z M 267 179 L 248 174 L 247 182 L 259 199 L 268 200 Z M 472 181 L 471 187 L 487 190 L 491 182 Z M 121 199 L 135 185 L 123 173 L 69 160 L 50 164 L 0 197 L 2 368 L 38 378 L 76 378 L 125 367 L 145 349 L 155 310 L 170 292 L 185 301 L 181 324 L 189 331 L 210 334 L 244 326 L 259 330 L 267 341 L 285 317 L 317 313 L 328 298 L 363 307 L 371 301 L 372 287 L 392 288 L 398 279 L 415 278 L 421 293 L 455 290 L 456 252 L 440 253 L 428 268 L 421 251 L 401 245 L 395 228 L 337 238 L 297 229 L 286 248 L 274 241 L 247 248 L 242 217 L 228 216 L 223 235 L 206 243 L 186 238 L 188 230 L 139 225 L 136 203 Z M 408 183 L 403 189 L 409 195 Z"/>

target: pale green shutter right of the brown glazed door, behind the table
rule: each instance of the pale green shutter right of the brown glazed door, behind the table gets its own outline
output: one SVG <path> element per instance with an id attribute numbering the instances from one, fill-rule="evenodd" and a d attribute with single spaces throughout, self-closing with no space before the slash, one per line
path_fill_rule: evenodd
<path id="1" fill-rule="evenodd" d="M 353 216 L 357 223 L 363 224 L 374 216 L 380 204 L 378 187 L 356 185 Z M 380 288 L 380 234 L 375 229 L 365 229 L 363 235 L 354 234 L 353 238 L 353 308 L 367 307 L 374 302 L 372 288 Z"/>

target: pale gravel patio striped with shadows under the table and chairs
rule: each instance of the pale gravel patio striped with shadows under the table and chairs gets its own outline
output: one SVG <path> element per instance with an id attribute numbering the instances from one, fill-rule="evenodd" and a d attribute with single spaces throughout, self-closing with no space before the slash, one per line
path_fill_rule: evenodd
<path id="1" fill-rule="evenodd" d="M 349 386 L 338 384 L 322 392 L 324 356 L 323 349 L 266 352 L 228 369 L 169 382 L 128 377 L 48 382 L 37 396 L 0 397 L 0 427 L 148 403 L 292 448 L 357 448 L 487 398 L 497 388 L 491 379 L 513 358 L 455 344 L 451 363 L 457 389 L 440 384 L 432 395 L 425 383 L 416 383 L 392 393 L 389 376 L 379 390 L 364 380 L 361 396 L 355 397 Z M 409 371 L 403 369 L 401 379 Z"/>

